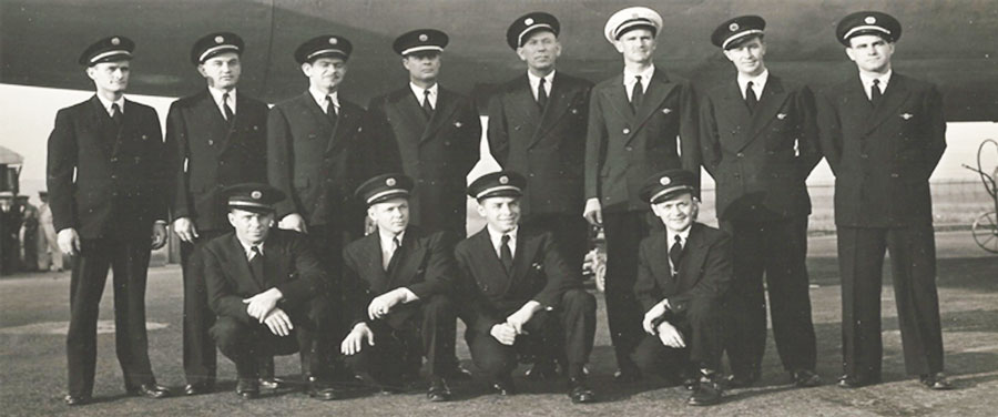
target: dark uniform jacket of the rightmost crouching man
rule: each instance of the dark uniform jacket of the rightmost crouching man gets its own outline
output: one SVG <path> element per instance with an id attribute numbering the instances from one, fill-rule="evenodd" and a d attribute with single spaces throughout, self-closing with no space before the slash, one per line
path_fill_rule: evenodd
<path id="1" fill-rule="evenodd" d="M 669 299 L 671 311 L 683 313 L 696 298 L 716 302 L 727 291 L 732 275 L 731 237 L 702 223 L 693 223 L 683 246 L 678 277 L 669 265 L 668 232 L 663 227 L 641 241 L 634 294 L 645 312 Z"/>

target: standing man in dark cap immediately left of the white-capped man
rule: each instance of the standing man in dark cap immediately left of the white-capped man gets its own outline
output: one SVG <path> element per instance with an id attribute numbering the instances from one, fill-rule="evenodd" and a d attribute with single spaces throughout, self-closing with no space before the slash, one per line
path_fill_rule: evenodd
<path id="1" fill-rule="evenodd" d="M 589 248 L 589 226 L 579 211 L 592 83 L 556 74 L 560 31 L 558 19 L 544 12 L 527 13 L 509 26 L 507 43 L 527 63 L 527 74 L 492 98 L 489 148 L 503 169 L 527 176 L 521 223 L 553 232 L 569 267 L 581 268 Z"/>

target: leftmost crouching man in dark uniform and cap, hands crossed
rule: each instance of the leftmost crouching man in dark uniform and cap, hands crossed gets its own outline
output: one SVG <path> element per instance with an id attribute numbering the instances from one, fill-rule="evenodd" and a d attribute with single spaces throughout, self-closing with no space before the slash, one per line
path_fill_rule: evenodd
<path id="1" fill-rule="evenodd" d="M 274 204 L 285 195 L 261 183 L 225 190 L 228 222 L 234 231 L 202 246 L 211 328 L 218 349 L 238 373 L 236 394 L 259 396 L 258 358 L 298 352 L 310 397 L 329 400 L 338 393 L 327 385 L 332 304 L 324 293 L 328 275 L 307 238 L 273 227 Z"/>

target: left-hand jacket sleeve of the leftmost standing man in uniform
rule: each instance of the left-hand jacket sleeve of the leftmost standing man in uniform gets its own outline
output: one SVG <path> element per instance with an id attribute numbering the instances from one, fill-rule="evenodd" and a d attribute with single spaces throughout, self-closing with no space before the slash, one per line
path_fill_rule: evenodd
<path id="1" fill-rule="evenodd" d="M 73 171 L 77 169 L 77 135 L 72 115 L 67 109 L 55 114 L 55 126 L 49 134 L 49 154 L 45 185 L 49 187 L 49 207 L 55 231 L 78 227 L 77 206 L 73 194 L 77 185 Z"/>

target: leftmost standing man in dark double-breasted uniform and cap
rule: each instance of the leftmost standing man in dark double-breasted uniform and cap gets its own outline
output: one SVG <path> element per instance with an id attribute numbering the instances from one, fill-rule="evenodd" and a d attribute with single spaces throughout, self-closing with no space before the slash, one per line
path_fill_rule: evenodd
<path id="1" fill-rule="evenodd" d="M 96 94 L 55 114 L 48 189 L 59 248 L 73 257 L 70 282 L 68 405 L 91 400 L 96 319 L 114 272 L 118 360 L 130 394 L 162 398 L 149 362 L 145 278 L 150 251 L 166 243 L 166 164 L 160 119 L 125 100 L 135 43 L 109 37 L 80 57 Z M 152 236 L 152 238 L 150 238 Z"/>

